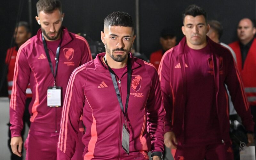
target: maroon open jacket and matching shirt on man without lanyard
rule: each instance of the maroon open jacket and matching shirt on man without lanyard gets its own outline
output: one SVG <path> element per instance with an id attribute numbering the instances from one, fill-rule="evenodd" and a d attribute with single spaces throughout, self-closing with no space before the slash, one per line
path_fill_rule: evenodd
<path id="1" fill-rule="evenodd" d="M 179 45 L 165 52 L 158 70 L 166 110 L 165 132 L 173 131 L 178 146 L 183 149 L 207 146 L 211 142 L 230 142 L 228 96 L 224 84 L 228 86 L 246 130 L 253 131 L 249 105 L 231 53 L 208 37 L 207 43 L 202 53 L 186 50 L 184 37 Z"/>

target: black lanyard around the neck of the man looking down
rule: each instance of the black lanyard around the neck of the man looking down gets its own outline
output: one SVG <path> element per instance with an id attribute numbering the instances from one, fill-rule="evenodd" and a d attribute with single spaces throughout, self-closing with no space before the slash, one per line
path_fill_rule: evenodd
<path id="1" fill-rule="evenodd" d="M 60 44 L 57 48 L 57 51 L 56 51 L 56 66 L 55 66 L 55 72 L 53 71 L 53 67 L 52 67 L 52 61 L 51 61 L 51 58 L 50 58 L 50 54 L 49 54 L 49 51 L 48 51 L 48 48 L 47 48 L 47 44 L 45 42 L 45 39 L 44 39 L 44 36 L 43 36 L 43 33 L 42 33 L 42 40 L 43 40 L 43 44 L 44 44 L 44 51 L 46 53 L 46 56 L 47 56 L 47 59 L 48 59 L 48 62 L 49 62 L 49 65 L 50 65 L 50 68 L 52 70 L 52 75 L 54 77 L 54 85 L 53 87 L 56 87 L 55 83 L 56 83 L 56 75 L 57 75 L 57 70 L 58 70 L 58 64 L 59 64 L 59 55 L 60 55 L 60 45 L 61 45 L 61 42 L 62 42 L 62 38 L 60 39 Z"/>

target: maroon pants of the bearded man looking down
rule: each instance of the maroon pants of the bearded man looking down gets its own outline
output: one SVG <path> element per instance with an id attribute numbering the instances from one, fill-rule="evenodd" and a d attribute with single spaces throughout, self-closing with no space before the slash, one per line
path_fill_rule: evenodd
<path id="1" fill-rule="evenodd" d="M 83 160 L 84 144 L 82 143 L 83 132 L 78 133 L 76 151 L 71 160 Z M 24 144 L 26 160 L 56 160 L 57 142 L 59 135 L 45 136 L 38 132 L 29 132 Z"/>

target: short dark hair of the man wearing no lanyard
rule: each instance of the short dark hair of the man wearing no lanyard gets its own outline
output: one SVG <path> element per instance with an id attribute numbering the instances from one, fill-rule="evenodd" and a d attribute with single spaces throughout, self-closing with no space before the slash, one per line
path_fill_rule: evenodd
<path id="1" fill-rule="evenodd" d="M 193 17 L 203 15 L 204 19 L 205 19 L 205 23 L 207 23 L 207 13 L 206 13 L 206 11 L 204 9 L 202 9 L 201 7 L 195 5 L 195 4 L 189 5 L 188 8 L 186 8 L 185 11 L 182 13 L 183 23 L 184 23 L 184 19 L 187 15 L 190 15 L 190 16 L 193 16 Z"/>

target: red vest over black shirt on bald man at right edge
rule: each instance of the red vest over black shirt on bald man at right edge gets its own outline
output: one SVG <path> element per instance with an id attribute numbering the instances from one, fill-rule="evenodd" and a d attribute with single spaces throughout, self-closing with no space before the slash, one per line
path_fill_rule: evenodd
<path id="1" fill-rule="evenodd" d="M 233 42 L 229 44 L 229 46 L 236 53 L 237 68 L 241 73 L 247 100 L 250 105 L 256 106 L 256 38 L 254 38 L 251 48 L 246 56 L 243 69 L 239 42 Z"/>

